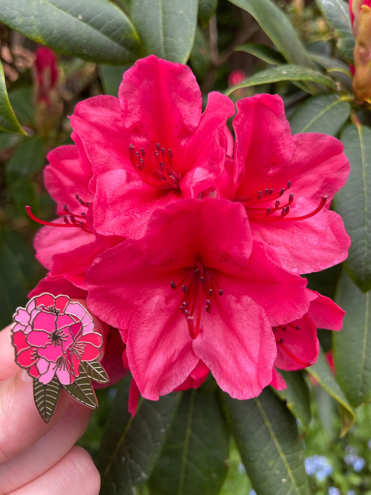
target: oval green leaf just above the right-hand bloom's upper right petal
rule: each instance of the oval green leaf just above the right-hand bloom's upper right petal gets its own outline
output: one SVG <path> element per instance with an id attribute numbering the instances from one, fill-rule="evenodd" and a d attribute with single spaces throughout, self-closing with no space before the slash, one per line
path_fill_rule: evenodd
<path id="1" fill-rule="evenodd" d="M 350 116 L 350 103 L 338 95 L 307 99 L 289 119 L 291 133 L 319 132 L 336 136 Z"/>

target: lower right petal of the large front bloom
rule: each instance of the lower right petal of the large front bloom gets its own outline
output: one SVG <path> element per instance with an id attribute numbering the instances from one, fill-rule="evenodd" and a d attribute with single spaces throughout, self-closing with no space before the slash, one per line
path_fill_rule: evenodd
<path id="1" fill-rule="evenodd" d="M 254 300 L 230 295 L 217 299 L 211 314 L 201 319 L 200 329 L 192 343 L 194 352 L 222 390 L 248 399 L 269 385 L 276 344 L 270 322 Z"/>

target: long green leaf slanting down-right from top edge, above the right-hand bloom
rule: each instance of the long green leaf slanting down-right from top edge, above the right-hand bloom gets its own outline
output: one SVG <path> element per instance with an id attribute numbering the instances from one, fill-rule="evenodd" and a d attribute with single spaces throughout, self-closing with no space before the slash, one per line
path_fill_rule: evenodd
<path id="1" fill-rule="evenodd" d="M 243 8 L 257 20 L 287 62 L 314 69 L 314 64 L 290 21 L 273 1 L 230 0 L 230 2 Z"/>

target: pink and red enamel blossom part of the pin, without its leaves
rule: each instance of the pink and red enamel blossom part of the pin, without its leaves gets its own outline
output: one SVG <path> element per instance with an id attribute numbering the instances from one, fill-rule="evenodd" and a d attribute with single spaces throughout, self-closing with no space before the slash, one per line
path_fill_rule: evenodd
<path id="1" fill-rule="evenodd" d="M 67 296 L 41 294 L 14 314 L 16 362 L 46 385 L 54 375 L 62 385 L 78 377 L 81 361 L 100 355 L 102 336 L 85 307 Z"/>

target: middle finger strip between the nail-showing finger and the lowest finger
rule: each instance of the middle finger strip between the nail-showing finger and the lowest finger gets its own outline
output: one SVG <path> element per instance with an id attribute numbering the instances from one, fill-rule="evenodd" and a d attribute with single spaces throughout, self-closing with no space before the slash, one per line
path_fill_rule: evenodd
<path id="1" fill-rule="evenodd" d="M 83 435 L 91 409 L 71 402 L 58 423 L 35 445 L 0 465 L 0 495 L 17 490 L 56 464 Z"/>

